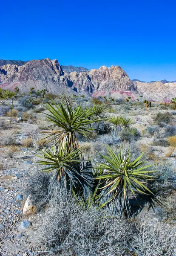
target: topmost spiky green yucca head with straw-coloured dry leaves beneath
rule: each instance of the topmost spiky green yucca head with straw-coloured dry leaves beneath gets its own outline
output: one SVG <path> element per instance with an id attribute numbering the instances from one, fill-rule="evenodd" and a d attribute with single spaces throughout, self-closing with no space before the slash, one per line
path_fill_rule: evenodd
<path id="1" fill-rule="evenodd" d="M 67 151 L 79 148 L 79 142 L 76 134 L 89 137 L 94 130 L 89 125 L 93 122 L 99 122 L 104 119 L 91 119 L 97 113 L 96 110 L 86 108 L 82 110 L 81 105 L 77 108 L 71 108 L 70 105 L 63 105 L 58 102 L 52 102 L 53 105 L 46 103 L 45 108 L 49 111 L 46 118 L 53 123 L 56 130 L 48 131 L 45 137 L 46 142 L 55 141 L 56 145 L 61 145 Z M 50 125 L 49 127 L 53 126 Z M 66 145 L 66 147 L 65 147 Z"/>

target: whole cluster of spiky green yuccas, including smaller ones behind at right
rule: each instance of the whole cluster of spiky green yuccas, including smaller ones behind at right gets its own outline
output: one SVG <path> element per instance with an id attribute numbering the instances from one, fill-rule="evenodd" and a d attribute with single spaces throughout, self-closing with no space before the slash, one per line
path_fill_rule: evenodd
<path id="1" fill-rule="evenodd" d="M 141 160 L 140 155 L 131 161 L 128 150 L 122 154 L 105 145 L 107 155 L 100 154 L 102 163 L 92 166 L 90 161 L 83 159 L 84 147 L 79 145 L 77 134 L 91 138 L 94 124 L 99 123 L 98 129 L 103 131 L 105 122 L 109 122 L 109 132 L 117 134 L 119 130 L 130 131 L 134 135 L 135 129 L 131 128 L 133 120 L 129 117 L 111 116 L 106 113 L 104 104 L 89 108 L 71 107 L 69 102 L 65 104 L 52 102 L 45 104 L 48 110 L 46 118 L 52 123 L 45 131 L 45 143 L 48 148 L 43 148 L 42 160 L 38 163 L 44 165 L 43 172 L 51 173 L 50 193 L 57 186 L 64 188 L 68 195 L 73 195 L 82 207 L 92 205 L 105 207 L 113 213 L 130 217 L 131 206 L 129 194 L 133 197 L 138 193 L 152 194 L 147 188 L 146 182 L 155 177 L 148 171 L 151 165 Z M 97 154 L 99 154 L 97 152 Z"/>

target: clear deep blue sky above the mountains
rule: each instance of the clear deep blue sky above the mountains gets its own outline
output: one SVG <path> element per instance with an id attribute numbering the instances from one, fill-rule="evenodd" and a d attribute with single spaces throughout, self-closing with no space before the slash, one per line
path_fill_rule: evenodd
<path id="1" fill-rule="evenodd" d="M 0 20 L 0 59 L 119 65 L 131 79 L 176 80 L 175 0 L 8 0 Z"/>

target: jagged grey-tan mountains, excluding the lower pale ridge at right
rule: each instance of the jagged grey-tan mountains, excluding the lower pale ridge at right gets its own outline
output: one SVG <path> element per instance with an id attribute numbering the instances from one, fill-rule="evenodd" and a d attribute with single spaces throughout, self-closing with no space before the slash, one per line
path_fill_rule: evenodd
<path id="1" fill-rule="evenodd" d="M 52 93 L 68 90 L 70 93 L 94 93 L 102 90 L 133 90 L 136 87 L 119 66 L 105 67 L 90 72 L 64 72 L 59 62 L 45 58 L 32 60 L 24 65 L 5 64 L 0 67 L 0 86 L 27 92 L 30 87 L 36 90 L 46 88 Z M 85 69 L 86 70 L 86 69 Z"/>

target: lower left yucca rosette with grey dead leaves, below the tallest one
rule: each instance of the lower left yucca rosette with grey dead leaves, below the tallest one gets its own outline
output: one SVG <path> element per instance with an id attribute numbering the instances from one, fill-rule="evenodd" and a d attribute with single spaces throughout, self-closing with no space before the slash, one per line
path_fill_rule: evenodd
<path id="1" fill-rule="evenodd" d="M 71 191 L 73 187 L 74 189 L 80 188 L 85 180 L 85 177 L 82 176 L 83 160 L 80 157 L 82 151 L 81 147 L 73 151 L 70 149 L 65 154 L 65 148 L 55 145 L 51 146 L 50 149 L 41 150 L 43 155 L 38 155 L 38 157 L 43 160 L 38 160 L 37 163 L 45 166 L 42 169 L 43 172 L 51 173 L 50 186 L 59 184 L 66 191 Z M 49 191 L 52 190 L 50 187 Z"/>

